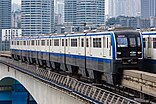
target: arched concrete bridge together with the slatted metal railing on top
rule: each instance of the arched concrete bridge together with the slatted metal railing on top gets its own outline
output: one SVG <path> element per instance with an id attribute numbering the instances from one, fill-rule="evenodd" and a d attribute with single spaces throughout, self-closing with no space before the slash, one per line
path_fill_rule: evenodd
<path id="1" fill-rule="evenodd" d="M 53 72 L 51 69 L 15 61 L 2 55 L 0 80 L 7 77 L 20 82 L 38 104 L 139 104 L 132 99 Z"/>

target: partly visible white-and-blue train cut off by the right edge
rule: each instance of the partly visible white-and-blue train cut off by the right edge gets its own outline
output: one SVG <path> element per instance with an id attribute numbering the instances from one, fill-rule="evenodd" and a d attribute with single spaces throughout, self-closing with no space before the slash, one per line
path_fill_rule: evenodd
<path id="1" fill-rule="evenodd" d="M 143 32 L 144 61 L 143 68 L 147 72 L 156 73 L 156 31 Z"/>

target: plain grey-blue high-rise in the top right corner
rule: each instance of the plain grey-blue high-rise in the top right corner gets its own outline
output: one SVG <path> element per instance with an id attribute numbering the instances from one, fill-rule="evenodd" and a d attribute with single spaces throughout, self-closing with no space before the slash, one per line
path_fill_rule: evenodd
<path id="1" fill-rule="evenodd" d="M 156 17 L 156 0 L 141 0 L 141 16 Z"/>

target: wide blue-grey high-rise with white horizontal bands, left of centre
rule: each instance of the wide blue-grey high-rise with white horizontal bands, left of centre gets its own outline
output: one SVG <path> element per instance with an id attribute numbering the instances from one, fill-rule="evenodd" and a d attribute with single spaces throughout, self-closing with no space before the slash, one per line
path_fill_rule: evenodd
<path id="1" fill-rule="evenodd" d="M 54 0 L 22 0 L 22 35 L 54 32 Z"/>

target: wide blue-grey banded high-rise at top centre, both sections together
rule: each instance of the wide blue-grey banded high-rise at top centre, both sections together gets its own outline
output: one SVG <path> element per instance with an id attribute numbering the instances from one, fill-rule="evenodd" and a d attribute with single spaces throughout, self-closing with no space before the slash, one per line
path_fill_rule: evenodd
<path id="1" fill-rule="evenodd" d="M 104 24 L 105 0 L 65 0 L 65 23 L 72 26 Z"/>

